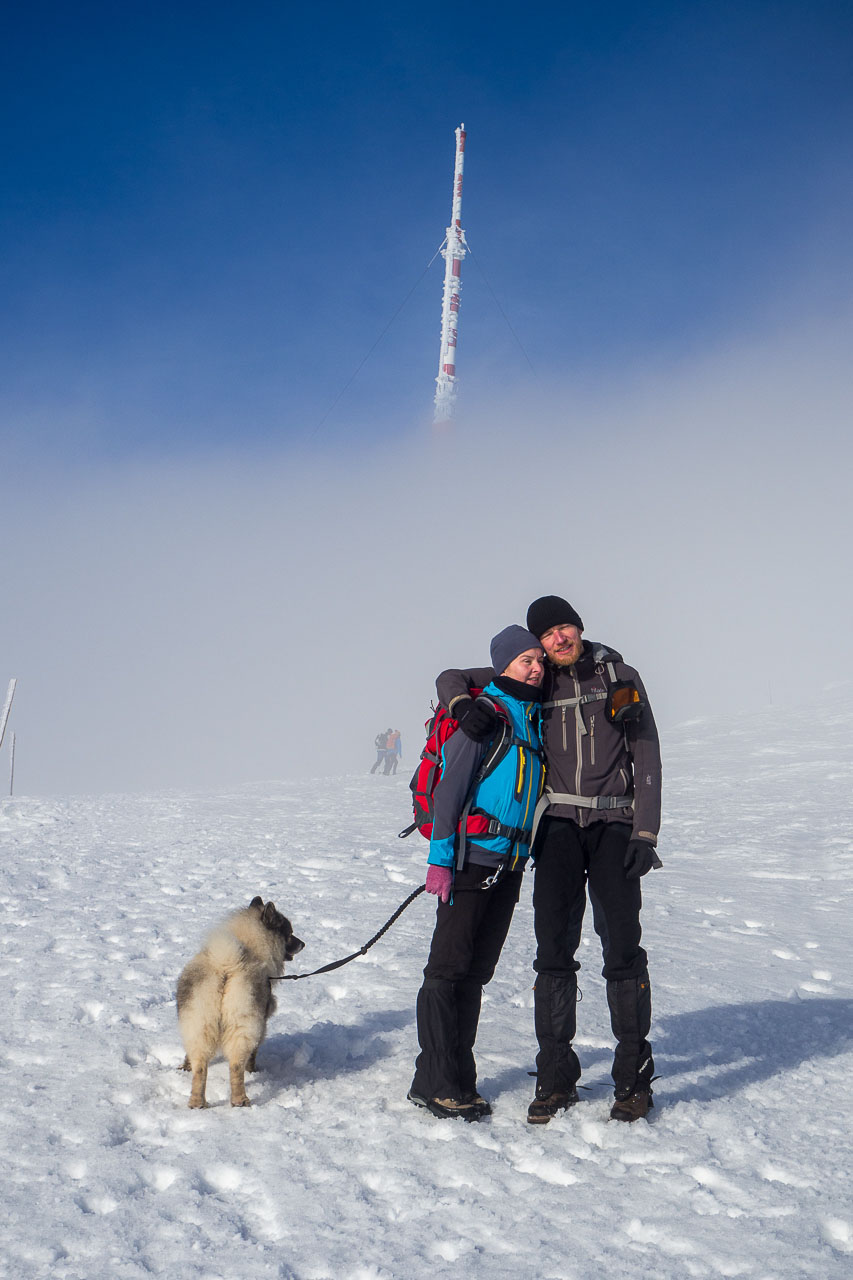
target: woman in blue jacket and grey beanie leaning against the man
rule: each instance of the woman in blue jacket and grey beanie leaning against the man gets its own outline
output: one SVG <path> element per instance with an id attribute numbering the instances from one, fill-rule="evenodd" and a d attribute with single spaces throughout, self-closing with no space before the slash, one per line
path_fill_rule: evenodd
<path id="1" fill-rule="evenodd" d="M 459 732 L 447 739 L 433 796 L 426 892 L 438 904 L 418 993 L 420 1053 L 409 1100 L 441 1119 L 479 1120 L 492 1111 L 476 1089 L 480 997 L 519 901 L 544 776 L 544 654 L 537 637 L 524 627 L 506 627 L 492 640 L 492 663 L 501 675 L 487 682 L 482 704 L 489 699 L 491 708 L 500 705 L 502 718 L 493 712 L 488 739 L 475 742 Z"/>

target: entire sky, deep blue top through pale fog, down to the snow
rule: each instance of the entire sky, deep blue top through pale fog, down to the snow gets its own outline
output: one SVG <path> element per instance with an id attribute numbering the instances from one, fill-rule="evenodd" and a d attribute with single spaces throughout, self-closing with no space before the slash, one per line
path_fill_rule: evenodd
<path id="1" fill-rule="evenodd" d="M 853 667 L 848 0 L 36 3 L 0 60 L 22 794 L 409 765 L 540 594 L 663 727 Z"/>

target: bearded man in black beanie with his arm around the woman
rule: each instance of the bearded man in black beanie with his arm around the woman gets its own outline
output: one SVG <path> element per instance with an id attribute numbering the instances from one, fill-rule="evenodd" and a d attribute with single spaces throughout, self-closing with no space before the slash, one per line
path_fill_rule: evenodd
<path id="1" fill-rule="evenodd" d="M 646 690 L 633 667 L 606 645 L 583 640 L 567 600 L 544 595 L 528 609 L 528 627 L 547 655 L 543 684 L 546 792 L 533 859 L 537 972 L 534 987 L 537 1091 L 530 1124 L 547 1124 L 578 1101 L 580 1062 L 575 954 L 585 890 L 601 938 L 616 1053 L 613 1120 L 638 1120 L 652 1102 L 654 1064 L 648 1033 L 652 1001 L 640 946 L 640 876 L 661 861 L 661 753 Z M 485 669 L 444 671 L 438 696 L 473 741 L 494 731 L 494 713 L 470 696 L 492 678 Z"/>

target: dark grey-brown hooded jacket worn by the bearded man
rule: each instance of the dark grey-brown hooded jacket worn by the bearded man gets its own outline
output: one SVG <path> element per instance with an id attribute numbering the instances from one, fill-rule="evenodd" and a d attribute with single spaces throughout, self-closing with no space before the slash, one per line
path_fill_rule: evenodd
<path id="1" fill-rule="evenodd" d="M 546 790 L 585 797 L 630 796 L 626 808 L 593 809 L 552 804 L 549 814 L 573 818 L 579 826 L 590 822 L 630 822 L 637 838 L 657 841 L 661 828 L 661 746 L 652 708 L 643 682 L 621 654 L 607 645 L 584 640 L 583 653 L 573 667 L 546 667 L 542 713 L 546 753 Z M 616 680 L 630 680 L 646 703 L 642 717 L 624 724 L 605 718 L 603 700 L 574 707 L 548 707 L 562 699 L 606 695 L 608 664 Z M 435 681 L 439 701 L 451 712 L 469 689 L 493 678 L 491 667 L 443 671 Z"/>

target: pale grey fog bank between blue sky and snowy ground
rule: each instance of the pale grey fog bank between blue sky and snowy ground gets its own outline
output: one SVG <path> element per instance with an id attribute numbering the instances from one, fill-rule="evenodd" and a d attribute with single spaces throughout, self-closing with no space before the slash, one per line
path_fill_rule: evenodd
<path id="1" fill-rule="evenodd" d="M 409 768 L 434 675 L 551 591 L 663 726 L 806 701 L 853 658 L 852 329 L 540 387 L 391 447 L 20 470 L 15 791 L 366 771 L 389 724 Z"/>

